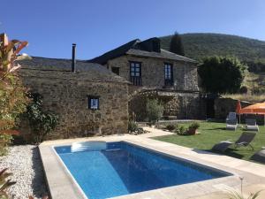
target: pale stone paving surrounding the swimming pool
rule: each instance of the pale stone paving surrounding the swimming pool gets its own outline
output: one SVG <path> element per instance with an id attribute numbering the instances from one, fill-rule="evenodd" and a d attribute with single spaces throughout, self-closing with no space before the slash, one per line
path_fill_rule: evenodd
<path id="1" fill-rule="evenodd" d="M 150 133 L 141 135 L 111 135 L 104 137 L 43 142 L 39 148 L 49 185 L 49 192 L 52 198 L 86 198 L 52 149 L 52 146 L 55 145 L 67 145 L 72 142 L 86 141 L 131 142 L 148 149 L 169 154 L 172 157 L 185 158 L 202 165 L 234 173 L 233 176 L 220 179 L 204 180 L 170 188 L 159 188 L 132 195 L 113 197 L 113 199 L 223 199 L 228 198 L 227 192 L 225 191 L 231 190 L 231 188 L 235 188 L 239 191 L 239 176 L 244 177 L 243 190 L 245 195 L 250 195 L 250 193 L 265 189 L 265 165 L 255 164 L 245 160 L 222 156 L 207 151 L 189 149 L 167 142 L 155 141 L 150 139 L 150 137 L 170 133 L 150 127 L 144 128 Z M 261 195 L 258 198 L 265 198 L 265 191 L 261 192 Z"/>

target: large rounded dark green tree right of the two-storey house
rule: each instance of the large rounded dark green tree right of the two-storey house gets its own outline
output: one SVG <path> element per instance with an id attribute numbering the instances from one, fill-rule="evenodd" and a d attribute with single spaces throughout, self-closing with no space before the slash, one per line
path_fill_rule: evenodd
<path id="1" fill-rule="evenodd" d="M 246 68 L 236 57 L 206 57 L 198 69 L 201 87 L 207 93 L 236 93 L 244 80 Z"/>

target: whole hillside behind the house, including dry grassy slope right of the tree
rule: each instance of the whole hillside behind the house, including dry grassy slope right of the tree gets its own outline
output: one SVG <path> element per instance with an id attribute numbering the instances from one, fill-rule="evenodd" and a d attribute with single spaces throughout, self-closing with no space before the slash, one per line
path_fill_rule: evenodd
<path id="1" fill-rule="evenodd" d="M 248 65 L 248 71 L 254 72 L 247 73 L 243 85 L 252 94 L 265 93 L 265 42 L 229 34 L 180 35 L 186 57 L 196 60 L 214 55 L 239 57 Z M 161 37 L 163 49 L 169 50 L 170 38 L 170 35 Z"/>

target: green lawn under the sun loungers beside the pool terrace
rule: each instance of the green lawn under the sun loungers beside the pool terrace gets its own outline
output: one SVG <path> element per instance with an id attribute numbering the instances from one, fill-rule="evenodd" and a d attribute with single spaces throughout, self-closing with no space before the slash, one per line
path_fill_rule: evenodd
<path id="1" fill-rule="evenodd" d="M 190 123 L 180 124 L 179 126 L 189 126 Z M 201 149 L 201 150 L 210 150 L 214 144 L 220 141 L 236 141 L 240 134 L 243 132 L 243 128 L 238 128 L 237 131 L 228 131 L 225 130 L 224 123 L 215 123 L 215 122 L 201 122 L 200 123 L 199 132 L 201 134 L 196 135 L 166 135 L 161 137 L 155 137 L 153 139 L 163 142 L 175 143 L 181 146 L 193 148 L 193 149 Z M 249 158 L 254 155 L 254 153 L 261 149 L 261 147 L 265 147 L 265 127 L 259 126 L 260 132 L 255 136 L 252 145 L 254 146 L 254 150 L 250 147 L 241 147 L 238 149 L 227 149 L 224 152 L 225 155 L 231 157 L 237 157 L 240 159 L 249 160 Z"/>

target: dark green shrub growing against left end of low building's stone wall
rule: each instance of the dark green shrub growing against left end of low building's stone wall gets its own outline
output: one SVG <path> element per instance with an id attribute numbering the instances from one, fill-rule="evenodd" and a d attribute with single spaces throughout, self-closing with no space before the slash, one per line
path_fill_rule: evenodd
<path id="1" fill-rule="evenodd" d="M 30 94 L 29 97 L 32 102 L 27 106 L 27 112 L 23 117 L 29 121 L 35 142 L 42 142 L 57 126 L 58 117 L 51 111 L 42 110 L 42 96 L 40 94 Z"/>

